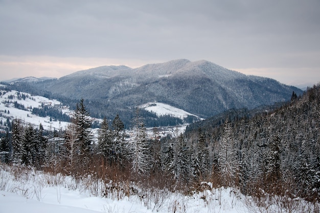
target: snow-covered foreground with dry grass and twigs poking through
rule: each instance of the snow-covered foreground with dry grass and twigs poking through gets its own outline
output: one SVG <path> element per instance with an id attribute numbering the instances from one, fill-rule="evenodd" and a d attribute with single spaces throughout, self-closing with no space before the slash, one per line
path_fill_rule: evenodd
<path id="1" fill-rule="evenodd" d="M 76 181 L 70 176 L 0 164 L 0 212 L 239 213 L 318 212 L 319 209 L 318 204 L 302 199 L 279 197 L 260 199 L 257 205 L 252 197 L 242 195 L 238 189 L 212 188 L 210 182 L 201 186 L 201 190 L 187 196 L 165 189 L 143 188 L 131 182 L 102 183 L 90 176 Z"/>

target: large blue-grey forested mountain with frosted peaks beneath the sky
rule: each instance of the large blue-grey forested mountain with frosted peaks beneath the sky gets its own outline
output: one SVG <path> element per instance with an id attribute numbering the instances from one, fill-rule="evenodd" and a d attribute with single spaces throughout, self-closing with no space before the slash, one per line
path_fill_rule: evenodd
<path id="1" fill-rule="evenodd" d="M 126 113 L 148 102 L 162 102 L 207 118 L 232 108 L 253 109 L 287 101 L 292 91 L 302 94 L 300 89 L 270 78 L 247 76 L 210 61 L 187 59 L 135 69 L 103 66 L 29 85 L 33 92 L 42 95 L 69 100 L 84 98 L 88 108 L 100 116 Z"/>

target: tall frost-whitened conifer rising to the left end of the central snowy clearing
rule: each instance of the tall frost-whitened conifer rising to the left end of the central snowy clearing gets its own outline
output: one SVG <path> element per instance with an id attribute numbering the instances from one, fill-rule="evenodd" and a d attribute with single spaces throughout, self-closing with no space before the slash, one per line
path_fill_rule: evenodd
<path id="1" fill-rule="evenodd" d="M 135 135 L 131 141 L 132 171 L 136 174 L 146 175 L 150 170 L 150 147 L 146 127 L 139 115 L 139 109 L 136 109 L 132 123 Z"/>

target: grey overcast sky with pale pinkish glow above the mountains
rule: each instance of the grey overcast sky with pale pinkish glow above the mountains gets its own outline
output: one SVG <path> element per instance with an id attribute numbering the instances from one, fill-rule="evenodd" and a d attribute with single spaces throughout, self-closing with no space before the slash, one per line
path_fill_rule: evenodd
<path id="1" fill-rule="evenodd" d="M 320 1 L 0 0 L 0 80 L 181 58 L 317 83 Z"/>

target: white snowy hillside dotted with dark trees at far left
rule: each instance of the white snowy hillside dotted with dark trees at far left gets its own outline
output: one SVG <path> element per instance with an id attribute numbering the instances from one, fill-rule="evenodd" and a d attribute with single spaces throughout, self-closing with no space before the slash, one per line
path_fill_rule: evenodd
<path id="1" fill-rule="evenodd" d="M 57 100 L 50 100 L 48 98 L 42 96 L 32 96 L 28 93 L 21 93 L 18 91 L 9 91 L 6 92 L 4 90 L 0 91 L 0 121 L 5 123 L 7 119 L 12 121 L 12 119 L 20 119 L 24 121 L 26 124 L 33 124 L 34 126 L 39 126 L 41 123 L 45 130 L 60 130 L 65 129 L 68 122 L 63 121 L 50 121 L 50 117 L 39 117 L 31 114 L 33 108 L 41 108 L 44 105 L 48 107 L 56 107 L 62 110 L 65 114 L 71 114 L 72 111 L 68 110 L 68 108 L 63 107 L 62 103 Z M 16 105 L 21 105 L 24 109 L 16 108 Z"/>

